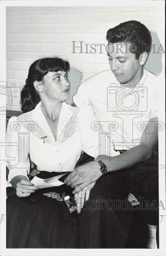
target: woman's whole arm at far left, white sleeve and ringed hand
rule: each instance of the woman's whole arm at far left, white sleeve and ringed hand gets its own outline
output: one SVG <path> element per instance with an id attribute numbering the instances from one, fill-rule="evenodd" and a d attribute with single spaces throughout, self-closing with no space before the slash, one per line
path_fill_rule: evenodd
<path id="1" fill-rule="evenodd" d="M 35 187 L 33 183 L 29 181 L 28 175 L 30 171 L 30 163 L 28 158 L 27 140 L 21 141 L 19 139 L 19 124 L 17 123 L 17 117 L 10 118 L 7 132 L 6 132 L 6 155 L 9 160 L 9 175 L 8 181 L 16 189 L 16 194 L 19 197 L 29 196 L 30 193 L 35 192 L 38 187 Z M 23 131 L 21 131 L 21 134 Z M 27 134 L 25 133 L 25 137 Z M 24 157 L 24 161 L 22 160 Z M 24 189 L 24 190 L 23 190 Z M 22 190 L 24 193 L 22 193 Z"/>

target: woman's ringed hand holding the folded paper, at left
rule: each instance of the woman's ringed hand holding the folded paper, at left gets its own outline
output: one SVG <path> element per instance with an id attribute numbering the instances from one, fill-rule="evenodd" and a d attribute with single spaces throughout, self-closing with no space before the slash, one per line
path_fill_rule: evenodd
<path id="1" fill-rule="evenodd" d="M 25 176 L 15 176 L 11 179 L 11 185 L 16 189 L 16 195 L 19 197 L 30 196 L 31 193 L 34 193 L 39 187 L 34 186 Z M 22 190 L 24 193 L 22 193 Z"/>

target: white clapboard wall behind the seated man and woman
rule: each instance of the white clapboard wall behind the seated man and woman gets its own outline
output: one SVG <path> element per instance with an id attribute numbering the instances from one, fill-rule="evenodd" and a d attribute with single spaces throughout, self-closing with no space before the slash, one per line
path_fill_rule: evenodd
<path id="1" fill-rule="evenodd" d="M 138 20 L 157 33 L 155 7 L 6 7 L 8 86 L 22 88 L 30 64 L 41 57 L 68 59 L 82 73 L 81 81 L 109 69 L 105 48 L 100 50 L 97 44 L 106 45 L 106 31 L 127 20 Z M 84 53 L 79 53 L 80 48 L 73 53 L 72 41 L 75 46 L 83 41 Z M 96 44 L 96 53 L 90 53 L 91 44 Z M 17 110 L 19 99 L 14 98 L 11 110 Z"/>

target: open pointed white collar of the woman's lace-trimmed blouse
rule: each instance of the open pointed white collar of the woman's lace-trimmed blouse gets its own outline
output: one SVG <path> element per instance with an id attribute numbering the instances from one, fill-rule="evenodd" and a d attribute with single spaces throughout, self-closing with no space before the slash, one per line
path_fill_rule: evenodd
<path id="1" fill-rule="evenodd" d="M 57 135 L 56 140 L 58 139 L 59 135 L 63 131 L 64 127 L 73 116 L 73 112 L 69 109 L 67 103 L 65 101 L 62 102 L 62 108 L 58 120 L 58 127 L 57 127 Z M 34 109 L 32 119 L 44 130 L 45 136 L 49 135 L 52 140 L 55 140 L 54 135 L 51 131 L 51 128 L 41 110 L 41 101 L 37 104 Z"/>

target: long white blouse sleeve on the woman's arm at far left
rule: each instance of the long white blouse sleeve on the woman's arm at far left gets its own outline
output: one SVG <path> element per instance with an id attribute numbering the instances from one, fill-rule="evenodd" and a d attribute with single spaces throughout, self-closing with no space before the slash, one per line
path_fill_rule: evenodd
<path id="1" fill-rule="evenodd" d="M 26 176 L 30 173 L 30 163 L 28 157 L 26 134 L 19 137 L 20 126 L 17 117 L 9 119 L 6 132 L 6 165 L 9 169 L 8 182 L 17 175 Z M 22 131 L 21 131 L 22 132 Z M 22 138 L 22 140 L 21 140 Z"/>

